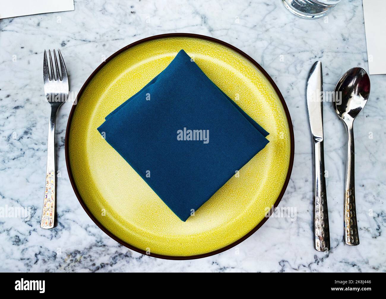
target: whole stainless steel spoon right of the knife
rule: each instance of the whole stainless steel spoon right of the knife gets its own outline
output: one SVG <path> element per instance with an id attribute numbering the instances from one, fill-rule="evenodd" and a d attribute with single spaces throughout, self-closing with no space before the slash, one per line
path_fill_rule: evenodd
<path id="1" fill-rule="evenodd" d="M 362 68 L 352 68 L 339 79 L 332 102 L 335 112 L 347 130 L 347 168 L 344 194 L 344 240 L 347 245 L 359 245 L 355 209 L 354 129 L 353 122 L 370 95 L 370 78 Z"/>

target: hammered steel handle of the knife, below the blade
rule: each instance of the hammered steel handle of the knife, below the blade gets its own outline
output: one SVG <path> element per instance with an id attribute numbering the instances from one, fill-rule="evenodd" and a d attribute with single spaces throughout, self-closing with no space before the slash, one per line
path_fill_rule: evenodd
<path id="1" fill-rule="evenodd" d="M 324 177 L 323 140 L 314 140 L 314 236 L 315 249 L 321 252 L 330 250 L 330 230 L 328 226 L 328 209 L 326 181 Z"/>

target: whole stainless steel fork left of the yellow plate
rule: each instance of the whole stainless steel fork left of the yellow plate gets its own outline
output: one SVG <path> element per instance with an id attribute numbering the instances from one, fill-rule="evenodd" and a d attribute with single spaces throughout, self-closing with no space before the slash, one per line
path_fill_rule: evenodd
<path id="1" fill-rule="evenodd" d="M 43 79 L 44 93 L 48 103 L 51 105 L 51 115 L 48 125 L 48 143 L 47 143 L 47 171 L 46 188 L 44 190 L 44 202 L 41 217 L 41 228 L 53 228 L 55 225 L 55 207 L 56 207 L 56 165 L 55 165 L 55 123 L 59 107 L 68 97 L 68 77 L 66 65 L 64 64 L 61 52 L 58 49 L 60 73 L 56 52 L 54 52 L 55 71 L 52 64 L 51 51 L 49 54 L 48 68 L 47 53 L 44 50 L 43 59 Z"/>

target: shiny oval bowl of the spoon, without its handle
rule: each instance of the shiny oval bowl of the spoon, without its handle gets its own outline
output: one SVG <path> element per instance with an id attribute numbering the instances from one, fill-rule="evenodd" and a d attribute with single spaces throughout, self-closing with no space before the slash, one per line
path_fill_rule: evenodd
<path id="1" fill-rule="evenodd" d="M 345 123 L 352 122 L 366 105 L 369 95 L 369 75 L 362 68 L 352 68 L 335 86 L 335 112 Z"/>

